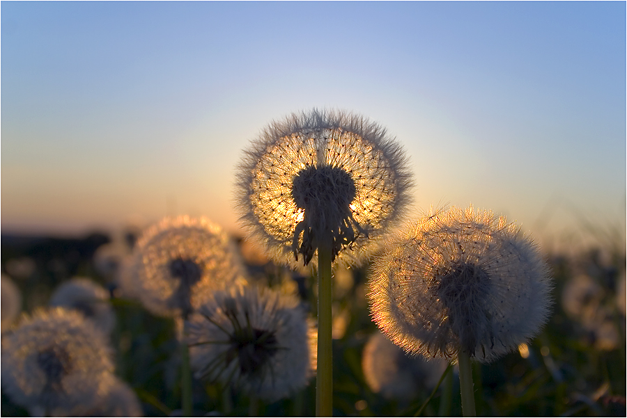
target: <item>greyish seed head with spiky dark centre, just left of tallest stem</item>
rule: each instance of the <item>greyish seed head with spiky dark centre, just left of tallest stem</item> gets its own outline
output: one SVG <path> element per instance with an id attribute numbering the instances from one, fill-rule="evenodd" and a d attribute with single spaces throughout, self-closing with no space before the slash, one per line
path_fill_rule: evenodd
<path id="1" fill-rule="evenodd" d="M 316 331 L 295 296 L 256 287 L 217 292 L 187 331 L 197 378 L 276 401 L 314 374 Z"/>

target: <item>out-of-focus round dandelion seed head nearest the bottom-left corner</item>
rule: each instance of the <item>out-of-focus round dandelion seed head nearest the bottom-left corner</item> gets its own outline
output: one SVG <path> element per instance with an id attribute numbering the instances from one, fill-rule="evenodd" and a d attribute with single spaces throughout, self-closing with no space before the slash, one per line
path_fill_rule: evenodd
<path id="1" fill-rule="evenodd" d="M 93 403 L 109 390 L 111 355 L 104 334 L 78 312 L 39 310 L 2 336 L 2 387 L 28 408 Z"/>

